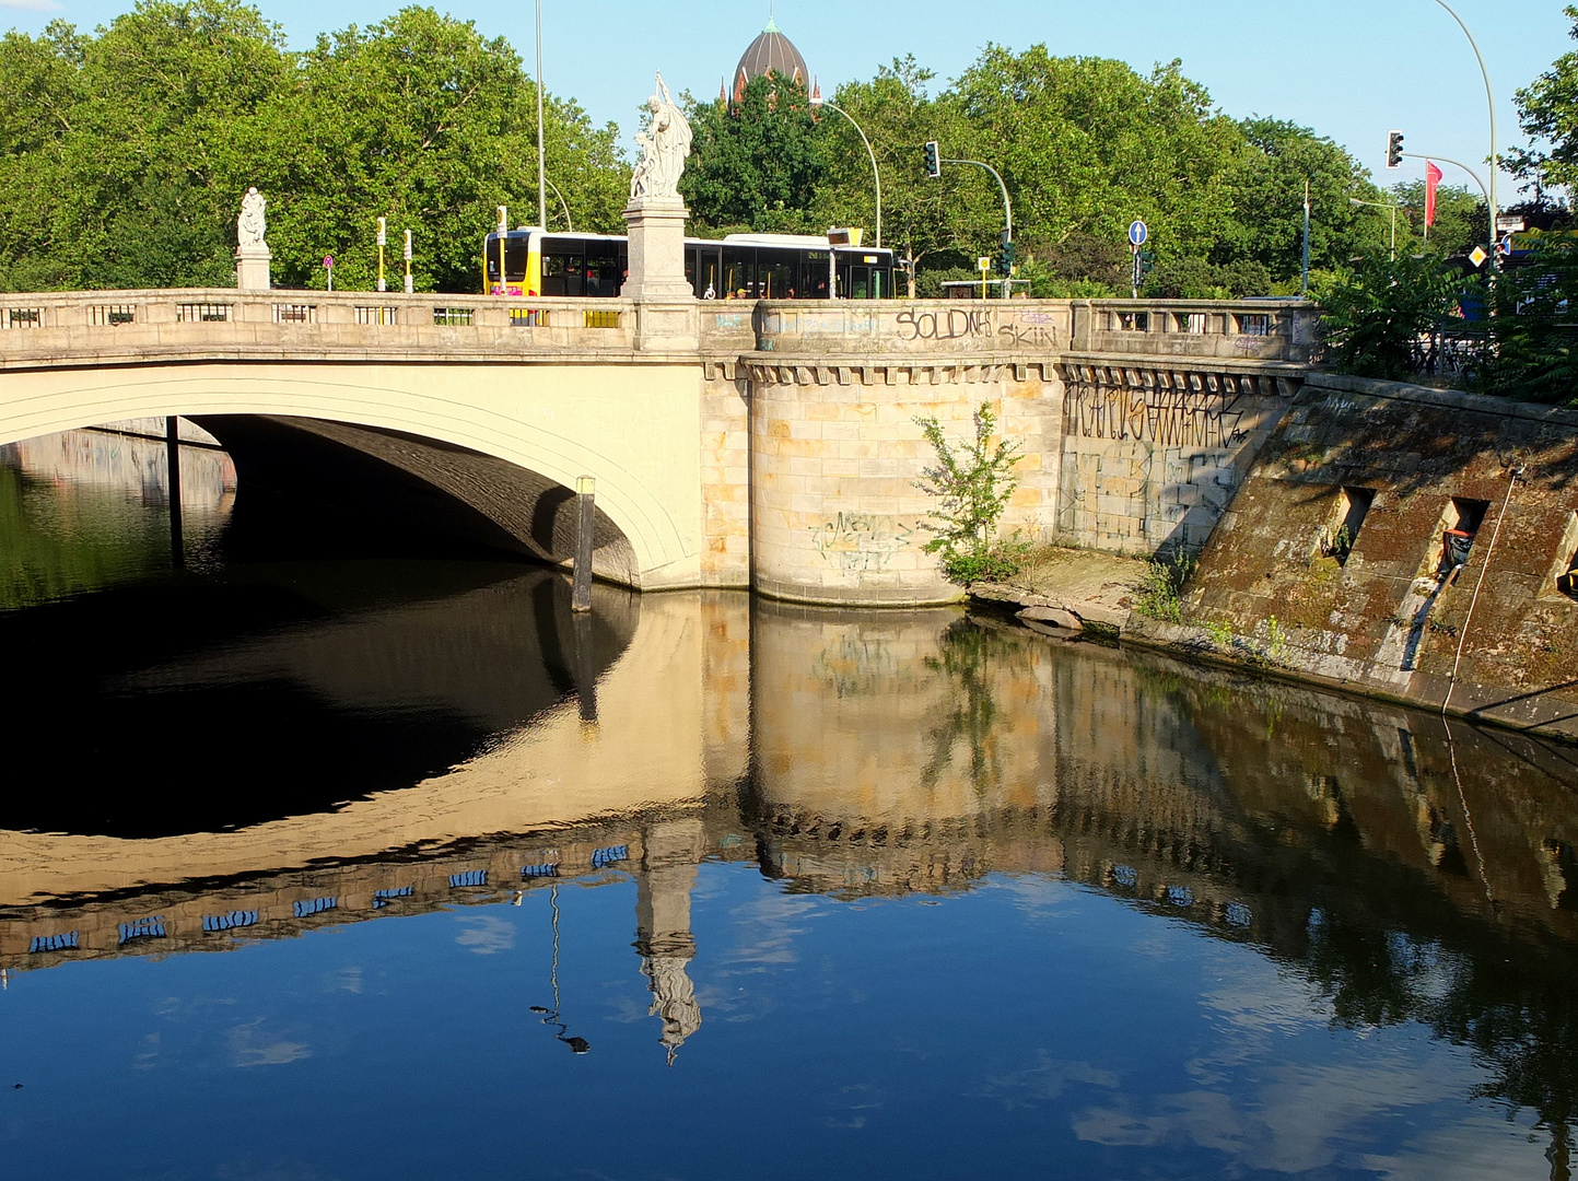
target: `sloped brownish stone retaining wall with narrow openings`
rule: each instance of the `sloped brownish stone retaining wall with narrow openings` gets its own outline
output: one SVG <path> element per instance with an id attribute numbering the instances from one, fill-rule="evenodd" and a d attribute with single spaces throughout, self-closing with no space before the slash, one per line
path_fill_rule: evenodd
<path id="1" fill-rule="evenodd" d="M 1310 374 L 1213 531 L 1193 647 L 1578 739 L 1578 414 Z"/>

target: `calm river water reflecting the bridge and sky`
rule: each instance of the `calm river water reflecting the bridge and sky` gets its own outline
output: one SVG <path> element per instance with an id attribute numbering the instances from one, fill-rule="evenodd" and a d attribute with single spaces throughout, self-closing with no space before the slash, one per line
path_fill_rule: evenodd
<path id="1" fill-rule="evenodd" d="M 161 455 L 0 456 L 6 1178 L 1569 1176 L 1578 752 Z"/>

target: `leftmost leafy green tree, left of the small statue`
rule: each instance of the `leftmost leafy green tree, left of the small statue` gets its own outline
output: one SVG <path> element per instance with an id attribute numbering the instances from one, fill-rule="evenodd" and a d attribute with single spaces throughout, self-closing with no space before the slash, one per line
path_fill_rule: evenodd
<path id="1" fill-rule="evenodd" d="M 289 69 L 275 25 L 235 0 L 142 0 L 96 36 L 13 33 L 0 58 L 0 281 L 227 281 L 235 144 Z"/>

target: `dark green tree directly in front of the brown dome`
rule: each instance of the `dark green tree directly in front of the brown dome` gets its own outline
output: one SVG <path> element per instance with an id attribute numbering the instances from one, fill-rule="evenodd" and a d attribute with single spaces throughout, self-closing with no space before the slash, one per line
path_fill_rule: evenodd
<path id="1" fill-rule="evenodd" d="M 827 229 L 811 213 L 827 159 L 803 85 L 764 76 L 739 101 L 683 101 L 694 155 L 680 193 L 697 221 L 757 232 Z"/>

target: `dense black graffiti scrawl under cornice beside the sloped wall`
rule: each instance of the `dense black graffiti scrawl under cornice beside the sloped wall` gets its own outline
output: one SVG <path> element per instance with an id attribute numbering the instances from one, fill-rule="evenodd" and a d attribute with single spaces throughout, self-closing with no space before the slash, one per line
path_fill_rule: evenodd
<path id="1" fill-rule="evenodd" d="M 1086 439 L 1135 439 L 1161 447 L 1232 447 L 1245 433 L 1237 395 L 1210 390 L 1070 385 L 1064 429 Z"/>

